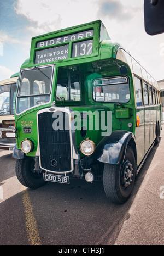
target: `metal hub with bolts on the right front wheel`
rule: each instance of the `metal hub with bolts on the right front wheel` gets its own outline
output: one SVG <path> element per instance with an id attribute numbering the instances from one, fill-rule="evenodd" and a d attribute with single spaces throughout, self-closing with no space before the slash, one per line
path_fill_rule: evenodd
<path id="1" fill-rule="evenodd" d="M 127 187 L 131 184 L 132 182 L 132 174 L 133 172 L 133 168 L 132 168 L 132 164 L 130 163 L 130 161 L 126 160 L 126 162 L 123 165 L 122 168 L 122 186 L 123 187 Z"/>

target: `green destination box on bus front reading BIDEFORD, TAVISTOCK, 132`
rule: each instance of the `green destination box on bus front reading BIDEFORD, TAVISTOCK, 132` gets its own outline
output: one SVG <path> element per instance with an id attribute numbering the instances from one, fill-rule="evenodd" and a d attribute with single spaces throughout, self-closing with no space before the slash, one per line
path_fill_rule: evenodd
<path id="1" fill-rule="evenodd" d="M 110 41 L 110 37 L 101 20 L 32 37 L 30 59 L 26 65 L 28 62 L 30 68 L 70 60 L 88 62 L 99 55 L 103 40 Z"/>

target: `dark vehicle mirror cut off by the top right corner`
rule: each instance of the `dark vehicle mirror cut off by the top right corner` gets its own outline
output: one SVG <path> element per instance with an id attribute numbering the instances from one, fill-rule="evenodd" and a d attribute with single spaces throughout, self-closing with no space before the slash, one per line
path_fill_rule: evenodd
<path id="1" fill-rule="evenodd" d="M 164 1 L 144 0 L 145 31 L 149 35 L 164 32 Z"/>

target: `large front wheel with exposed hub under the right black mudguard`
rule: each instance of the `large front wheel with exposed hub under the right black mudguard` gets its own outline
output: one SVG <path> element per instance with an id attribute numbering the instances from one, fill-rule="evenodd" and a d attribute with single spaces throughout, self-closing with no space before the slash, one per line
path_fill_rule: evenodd
<path id="1" fill-rule="evenodd" d="M 130 197 L 136 176 L 136 160 L 131 147 L 127 147 L 124 162 L 104 164 L 103 185 L 106 196 L 115 203 L 124 203 Z"/>

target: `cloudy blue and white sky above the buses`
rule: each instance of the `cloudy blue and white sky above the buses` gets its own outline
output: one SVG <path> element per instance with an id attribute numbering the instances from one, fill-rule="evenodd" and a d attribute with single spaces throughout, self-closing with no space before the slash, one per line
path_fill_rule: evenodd
<path id="1" fill-rule="evenodd" d="M 144 0 L 0 0 L 0 81 L 29 58 L 33 36 L 95 20 L 156 81 L 164 79 L 164 33 L 145 32 Z"/>

